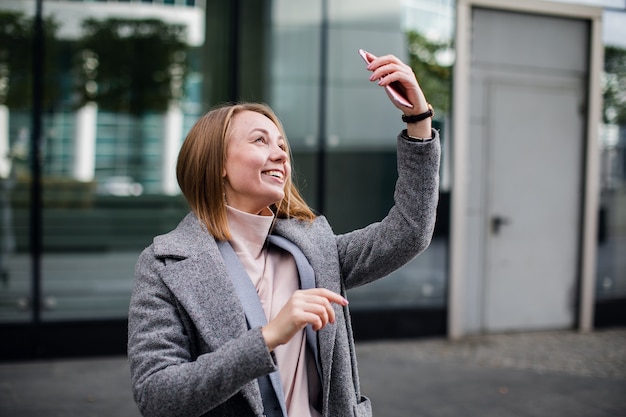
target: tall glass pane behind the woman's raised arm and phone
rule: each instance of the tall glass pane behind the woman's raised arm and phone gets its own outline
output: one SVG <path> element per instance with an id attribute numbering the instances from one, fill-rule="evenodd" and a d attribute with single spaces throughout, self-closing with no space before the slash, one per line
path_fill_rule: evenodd
<path id="1" fill-rule="evenodd" d="M 432 1 L 409 3 L 410 7 L 398 8 L 368 3 L 366 10 L 356 18 L 350 10 L 362 5 L 358 1 L 344 1 L 331 7 L 327 212 L 338 232 L 382 219 L 393 205 L 397 178 L 396 136 L 402 129 L 400 112 L 389 103 L 383 91 L 368 81 L 364 63 L 356 53 L 359 48 L 375 55 L 394 54 L 412 65 L 418 77 L 423 74 L 422 88 L 438 110 L 435 127 L 440 129 L 445 142 L 444 121 L 449 112 L 452 62 L 432 63 L 426 61 L 429 57 L 416 54 L 416 50 L 425 46 L 434 54 L 450 49 L 452 5 Z M 432 26 L 429 35 L 432 40 L 429 40 L 420 32 L 425 30 L 424 26 L 410 22 L 433 7 L 440 23 Z M 425 62 L 437 66 L 438 74 L 424 71 Z M 431 84 L 427 85 L 426 81 Z M 438 98 L 445 100 L 435 102 Z M 445 210 L 449 190 L 442 187 L 441 191 L 440 210 Z M 446 218 L 445 214 L 439 217 Z M 448 245 L 445 230 L 445 225 L 438 224 L 431 246 L 389 278 L 351 290 L 351 308 L 354 311 L 445 309 Z"/>

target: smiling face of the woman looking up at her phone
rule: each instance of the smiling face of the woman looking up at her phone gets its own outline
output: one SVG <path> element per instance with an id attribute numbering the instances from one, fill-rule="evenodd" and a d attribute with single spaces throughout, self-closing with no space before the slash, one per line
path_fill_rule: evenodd
<path id="1" fill-rule="evenodd" d="M 266 116 L 245 110 L 228 132 L 224 186 L 229 206 L 259 214 L 285 196 L 291 175 L 285 139 Z"/>

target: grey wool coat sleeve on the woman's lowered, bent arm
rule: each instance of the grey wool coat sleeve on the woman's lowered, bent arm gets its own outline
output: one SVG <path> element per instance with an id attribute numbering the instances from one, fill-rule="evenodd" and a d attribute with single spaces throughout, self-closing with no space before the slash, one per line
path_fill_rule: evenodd
<path id="1" fill-rule="evenodd" d="M 201 416 L 247 384 L 258 390 L 256 378 L 276 370 L 260 328 L 196 355 L 197 333 L 162 279 L 167 269 L 151 247 L 141 254 L 136 266 L 128 318 L 128 358 L 133 395 L 142 414 Z M 249 412 L 249 405 L 244 405 Z"/>

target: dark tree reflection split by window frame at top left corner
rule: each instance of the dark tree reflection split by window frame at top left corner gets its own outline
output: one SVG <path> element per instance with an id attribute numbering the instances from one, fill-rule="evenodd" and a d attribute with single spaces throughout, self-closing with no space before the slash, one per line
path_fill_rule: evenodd
<path id="1" fill-rule="evenodd" d="M 0 11 L 0 104 L 11 109 L 32 107 L 33 19 L 23 13 Z M 44 108 L 58 96 L 55 34 L 58 24 L 44 19 Z"/>

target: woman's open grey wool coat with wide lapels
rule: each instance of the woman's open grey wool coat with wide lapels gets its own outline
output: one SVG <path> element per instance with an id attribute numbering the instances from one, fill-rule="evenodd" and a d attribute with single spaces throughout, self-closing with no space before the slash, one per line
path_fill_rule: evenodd
<path id="1" fill-rule="evenodd" d="M 278 219 L 317 287 L 347 289 L 384 277 L 429 245 L 438 199 L 440 145 L 398 136 L 395 205 L 380 222 L 335 235 L 323 216 Z M 371 416 L 361 395 L 348 307 L 318 332 L 324 417 Z M 260 328 L 246 317 L 215 239 L 193 214 L 140 255 L 128 318 L 128 358 L 144 416 L 262 416 L 256 379 L 276 370 Z M 298 416 L 290 416 L 298 417 Z"/>

